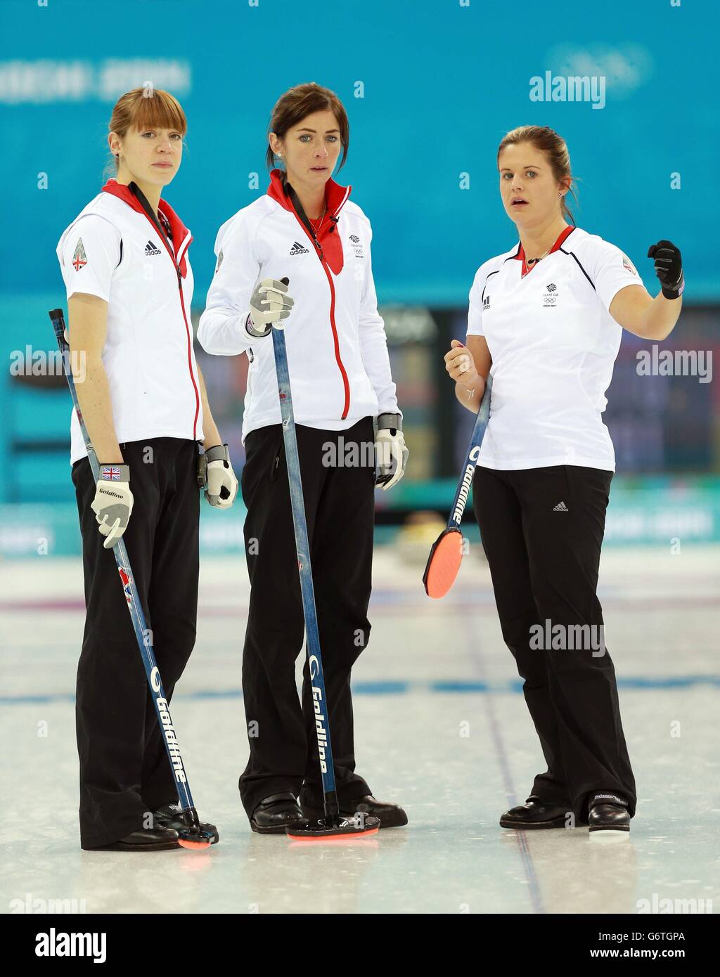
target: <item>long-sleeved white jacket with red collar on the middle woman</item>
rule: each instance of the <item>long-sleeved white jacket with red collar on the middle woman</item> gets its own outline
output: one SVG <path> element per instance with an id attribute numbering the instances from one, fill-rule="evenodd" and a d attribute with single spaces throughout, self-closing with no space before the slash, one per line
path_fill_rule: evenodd
<path id="1" fill-rule="evenodd" d="M 218 232 L 217 266 L 197 338 L 208 352 L 247 353 L 250 368 L 242 440 L 280 423 L 273 338 L 245 329 L 262 278 L 289 278 L 294 306 L 284 319 L 295 420 L 344 430 L 360 418 L 400 413 L 390 373 L 385 325 L 377 312 L 370 265 L 370 222 L 350 202 L 351 187 L 325 185 L 327 212 L 317 242 L 273 170 L 268 192 Z"/>

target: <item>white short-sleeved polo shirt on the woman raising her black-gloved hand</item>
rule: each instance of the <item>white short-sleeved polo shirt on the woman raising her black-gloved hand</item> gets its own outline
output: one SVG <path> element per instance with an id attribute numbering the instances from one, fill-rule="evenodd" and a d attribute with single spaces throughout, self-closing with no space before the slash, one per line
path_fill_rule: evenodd
<path id="1" fill-rule="evenodd" d="M 468 336 L 485 336 L 492 358 L 479 465 L 614 471 L 602 414 L 622 329 L 608 310 L 621 288 L 642 284 L 622 251 L 580 228 L 529 270 L 521 244 L 481 265 L 468 314 Z"/>

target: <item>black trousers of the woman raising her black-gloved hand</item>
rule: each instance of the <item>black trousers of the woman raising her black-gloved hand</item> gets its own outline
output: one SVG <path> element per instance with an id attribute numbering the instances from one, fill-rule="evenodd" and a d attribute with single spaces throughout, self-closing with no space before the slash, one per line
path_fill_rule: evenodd
<path id="1" fill-rule="evenodd" d="M 569 804 L 581 820 L 591 791 L 625 797 L 631 817 L 636 803 L 613 662 L 607 649 L 599 652 L 596 591 L 612 478 L 600 469 L 555 465 L 478 467 L 473 481 L 503 638 L 525 679 L 547 763 L 531 793 Z M 583 625 L 591 625 L 584 631 L 589 641 L 577 640 Z M 572 644 L 584 650 L 570 650 Z"/>

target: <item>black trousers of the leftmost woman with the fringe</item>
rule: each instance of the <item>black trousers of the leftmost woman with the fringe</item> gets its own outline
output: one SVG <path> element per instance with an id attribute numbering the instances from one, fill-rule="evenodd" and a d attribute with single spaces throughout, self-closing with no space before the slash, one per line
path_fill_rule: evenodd
<path id="1" fill-rule="evenodd" d="M 122 538 L 169 700 L 195 641 L 197 446 L 152 438 L 121 447 L 133 493 Z M 96 486 L 87 458 L 72 466 L 72 481 L 87 607 L 75 699 L 80 841 L 97 848 L 143 828 L 146 813 L 177 802 L 178 793 L 115 557 L 90 508 Z"/>

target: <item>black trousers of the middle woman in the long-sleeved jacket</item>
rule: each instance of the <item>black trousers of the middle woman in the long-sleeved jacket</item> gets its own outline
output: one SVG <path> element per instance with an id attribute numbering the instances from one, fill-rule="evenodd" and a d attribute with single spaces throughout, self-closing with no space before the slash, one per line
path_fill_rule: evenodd
<path id="1" fill-rule="evenodd" d="M 350 671 L 370 634 L 374 460 L 365 448 L 373 444 L 373 426 L 365 417 L 346 431 L 301 425 L 296 431 L 342 805 L 370 793 L 355 773 Z M 331 445 L 336 447 L 336 461 L 355 464 L 333 464 L 327 448 Z M 261 800 L 283 790 L 321 808 L 322 786 L 307 660 L 302 705 L 295 686 L 295 660 L 302 651 L 305 624 L 281 425 L 251 431 L 245 449 L 242 496 L 251 591 L 242 692 L 250 758 L 239 788 L 251 817 Z"/>

